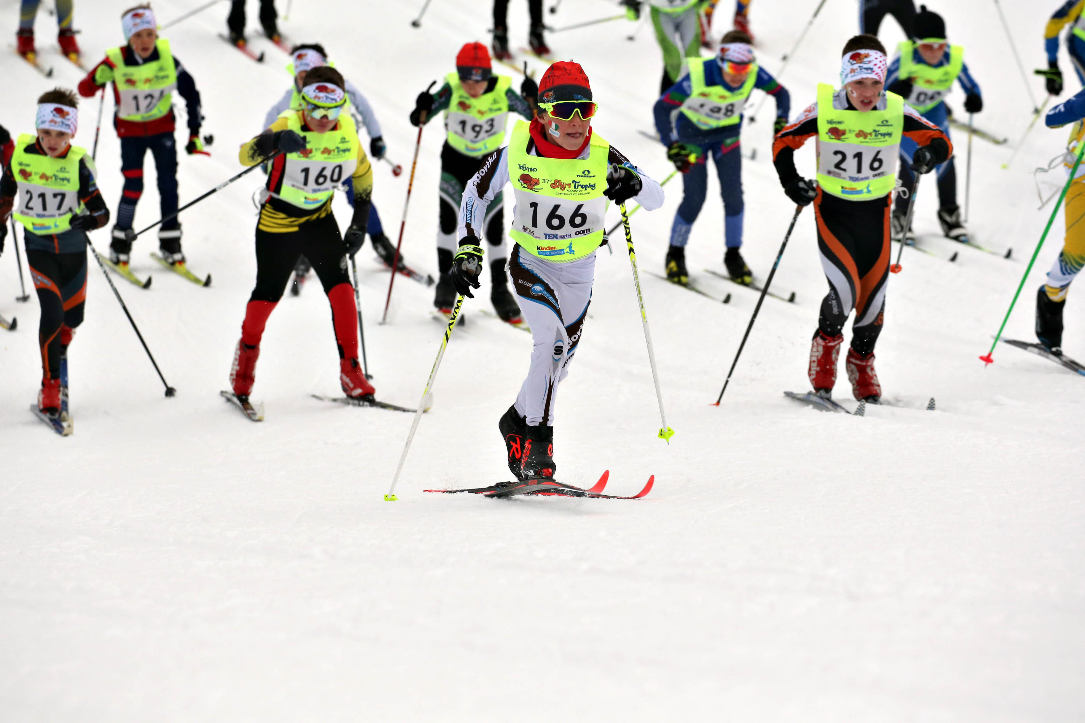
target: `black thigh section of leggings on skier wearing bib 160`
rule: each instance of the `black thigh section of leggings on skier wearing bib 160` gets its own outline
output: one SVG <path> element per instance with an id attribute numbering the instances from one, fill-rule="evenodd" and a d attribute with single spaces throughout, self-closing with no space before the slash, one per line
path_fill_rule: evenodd
<path id="1" fill-rule="evenodd" d="M 335 217 L 329 214 L 308 221 L 292 233 L 256 230 L 256 286 L 250 301 L 278 302 L 286 289 L 297 257 L 305 258 L 324 287 L 324 294 L 339 284 L 348 284 L 346 245 L 340 236 Z"/>

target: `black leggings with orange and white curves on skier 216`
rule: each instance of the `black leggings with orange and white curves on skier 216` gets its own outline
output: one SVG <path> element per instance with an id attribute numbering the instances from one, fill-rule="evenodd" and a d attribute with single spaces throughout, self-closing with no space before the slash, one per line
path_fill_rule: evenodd
<path id="1" fill-rule="evenodd" d="M 889 197 L 844 201 L 818 191 L 814 214 L 821 268 L 829 280 L 818 326 L 826 336 L 837 336 L 855 309 L 852 348 L 868 354 L 878 343 L 885 312 L 891 253 Z"/>

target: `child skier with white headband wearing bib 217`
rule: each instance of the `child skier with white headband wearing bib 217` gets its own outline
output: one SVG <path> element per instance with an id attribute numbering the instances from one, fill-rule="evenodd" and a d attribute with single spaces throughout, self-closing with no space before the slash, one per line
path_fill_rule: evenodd
<path id="1" fill-rule="evenodd" d="M 110 221 L 93 160 L 86 149 L 71 144 L 79 125 L 78 103 L 75 93 L 61 88 L 39 98 L 37 135 L 18 137 L 0 178 L 0 250 L 14 211 L 24 228 L 26 261 L 41 305 L 38 409 L 53 418 L 61 413 L 61 362 L 82 323 L 87 232 Z"/>

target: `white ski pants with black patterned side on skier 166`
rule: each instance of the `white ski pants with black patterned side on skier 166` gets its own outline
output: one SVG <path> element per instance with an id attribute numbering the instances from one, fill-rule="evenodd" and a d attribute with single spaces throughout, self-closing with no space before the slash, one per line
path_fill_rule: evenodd
<path id="1" fill-rule="evenodd" d="M 527 417 L 528 425 L 553 426 L 558 385 L 569 374 L 591 304 L 596 255 L 556 263 L 514 244 L 509 275 L 534 344 L 527 378 L 516 397 L 516 412 Z"/>

